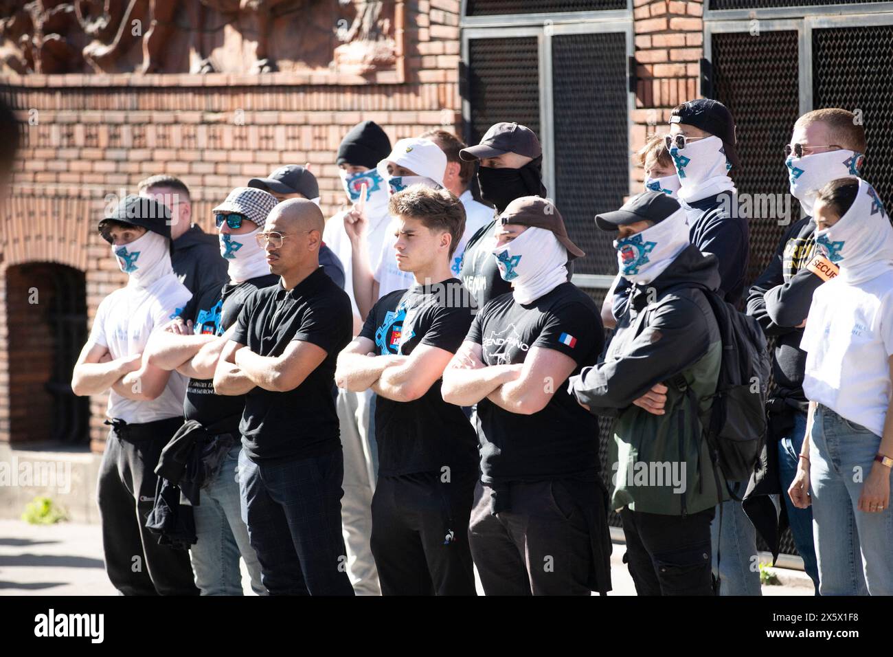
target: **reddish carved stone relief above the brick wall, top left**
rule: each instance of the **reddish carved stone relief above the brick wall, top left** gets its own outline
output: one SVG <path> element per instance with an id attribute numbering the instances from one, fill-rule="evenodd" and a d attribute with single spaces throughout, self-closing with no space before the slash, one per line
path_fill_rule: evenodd
<path id="1" fill-rule="evenodd" d="M 402 0 L 0 0 L 0 73 L 396 66 Z"/>

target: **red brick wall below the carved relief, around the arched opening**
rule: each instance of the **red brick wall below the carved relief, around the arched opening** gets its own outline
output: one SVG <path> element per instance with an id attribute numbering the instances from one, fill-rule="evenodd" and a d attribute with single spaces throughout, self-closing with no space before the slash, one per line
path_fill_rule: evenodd
<path id="1" fill-rule="evenodd" d="M 405 3 L 402 72 L 367 84 L 290 73 L 261 76 L 29 75 L 14 77 L 13 102 L 26 129 L 13 198 L 0 233 L 0 302 L 6 270 L 55 262 L 86 273 L 90 321 L 125 280 L 96 235 L 106 195 L 135 193 L 139 180 L 171 173 L 185 181 L 193 214 L 211 230 L 210 209 L 233 187 L 280 164 L 312 165 L 321 204 L 345 196 L 338 143 L 371 119 L 392 140 L 434 126 L 460 129 L 459 0 Z M 401 78 L 403 80 L 401 80 Z M 0 441 L 11 440 L 9 333 L 20 319 L 0 312 Z M 91 400 L 90 435 L 102 449 L 104 395 Z"/>

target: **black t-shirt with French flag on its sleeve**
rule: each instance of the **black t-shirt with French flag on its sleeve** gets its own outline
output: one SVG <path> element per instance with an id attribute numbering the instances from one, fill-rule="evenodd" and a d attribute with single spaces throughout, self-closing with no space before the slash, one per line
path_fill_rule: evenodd
<path id="1" fill-rule="evenodd" d="M 577 375 L 597 363 L 605 333 L 595 302 L 565 282 L 530 304 L 511 294 L 493 299 L 474 318 L 467 340 L 481 345 L 486 365 L 522 363 L 531 347 L 541 347 L 573 358 Z M 597 418 L 568 394 L 565 382 L 554 389 L 546 408 L 532 415 L 510 413 L 487 398 L 478 402 L 485 484 L 597 478 Z"/>

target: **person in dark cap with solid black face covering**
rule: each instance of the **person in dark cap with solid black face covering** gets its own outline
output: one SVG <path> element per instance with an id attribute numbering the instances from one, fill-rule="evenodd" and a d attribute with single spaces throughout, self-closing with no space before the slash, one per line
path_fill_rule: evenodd
<path id="1" fill-rule="evenodd" d="M 463 148 L 459 156 L 466 162 L 480 161 L 478 186 L 480 198 L 505 210 L 515 198 L 538 196 L 546 198 L 543 186 L 543 151 L 537 136 L 517 123 L 497 123 L 480 139 L 477 146 Z M 497 220 L 474 233 L 465 245 L 459 278 L 484 307 L 490 299 L 512 291 L 493 259 L 494 234 Z"/>

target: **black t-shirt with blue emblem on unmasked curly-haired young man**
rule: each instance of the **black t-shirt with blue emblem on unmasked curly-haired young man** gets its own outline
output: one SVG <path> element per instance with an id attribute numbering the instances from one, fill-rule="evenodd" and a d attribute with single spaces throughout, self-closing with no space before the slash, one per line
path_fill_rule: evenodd
<path id="1" fill-rule="evenodd" d="M 372 307 L 360 337 L 375 343 L 375 352 L 408 356 L 427 344 L 455 353 L 472 324 L 472 308 L 462 282 L 449 279 L 393 291 Z M 451 477 L 477 470 L 474 429 L 462 409 L 440 396 L 440 379 L 413 401 L 375 401 L 375 440 L 380 476 L 439 472 Z"/>

